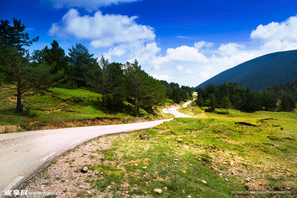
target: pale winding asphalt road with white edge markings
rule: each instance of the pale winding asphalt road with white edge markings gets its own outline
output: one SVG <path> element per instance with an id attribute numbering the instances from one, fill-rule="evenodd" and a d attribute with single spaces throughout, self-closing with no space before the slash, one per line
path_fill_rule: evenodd
<path id="1" fill-rule="evenodd" d="M 163 112 L 176 117 L 192 117 L 177 112 L 177 109 L 173 107 Z M 20 190 L 51 160 L 83 142 L 105 134 L 152 128 L 172 119 L 0 134 L 0 197 L 8 197 L 4 195 L 5 190 Z"/>

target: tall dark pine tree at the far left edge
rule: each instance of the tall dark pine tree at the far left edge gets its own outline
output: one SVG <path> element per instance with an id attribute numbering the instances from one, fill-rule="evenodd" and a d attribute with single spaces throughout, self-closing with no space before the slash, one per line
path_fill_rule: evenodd
<path id="1" fill-rule="evenodd" d="M 13 26 L 8 26 L 7 21 L 1 20 L 1 28 L 4 29 L 0 31 L 0 70 L 6 73 L 5 83 L 16 86 L 6 88 L 18 91 L 15 112 L 20 113 L 24 107 L 21 102 L 23 93 L 56 83 L 63 71 L 50 74 L 55 65 L 48 65 L 44 61 L 37 62 L 42 51 L 35 50 L 30 56 L 29 50 L 23 48 L 37 42 L 39 37 L 30 40 L 29 34 L 23 33 L 26 27 L 20 20 L 14 18 Z"/>

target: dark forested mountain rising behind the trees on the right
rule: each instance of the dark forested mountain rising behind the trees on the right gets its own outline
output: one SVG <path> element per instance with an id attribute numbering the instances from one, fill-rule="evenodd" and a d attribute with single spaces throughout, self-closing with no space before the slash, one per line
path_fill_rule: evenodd
<path id="1" fill-rule="evenodd" d="M 297 50 L 275 52 L 254 58 L 215 75 L 195 88 L 233 82 L 251 90 L 263 90 L 266 87 L 290 80 L 297 80 Z"/>

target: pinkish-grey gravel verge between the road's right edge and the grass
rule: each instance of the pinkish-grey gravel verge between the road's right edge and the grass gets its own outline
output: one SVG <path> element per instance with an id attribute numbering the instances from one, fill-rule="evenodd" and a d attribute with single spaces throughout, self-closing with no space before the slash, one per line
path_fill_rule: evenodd
<path id="1" fill-rule="evenodd" d="M 91 152 L 98 150 L 105 150 L 111 147 L 111 142 L 114 138 L 129 138 L 129 134 L 119 134 L 113 136 L 105 136 L 93 141 L 86 142 L 79 148 L 67 152 L 55 161 L 52 161 L 50 165 L 43 170 L 36 177 L 27 182 L 23 189 L 28 190 L 26 197 L 46 197 L 45 195 L 29 195 L 29 192 L 61 192 L 56 197 L 118 197 L 112 194 L 117 193 L 121 198 L 126 197 L 138 197 L 135 195 L 129 195 L 129 184 L 110 184 L 110 189 L 106 189 L 104 192 L 92 189 L 90 183 L 85 182 L 87 179 L 97 180 L 101 173 L 97 170 L 88 170 L 86 173 L 82 173 L 79 169 L 82 169 L 85 164 L 95 165 L 100 163 L 100 158 L 103 158 L 102 154 L 97 152 Z M 96 175 L 97 174 L 97 175 Z M 115 188 L 117 192 L 114 191 Z M 119 188 L 122 191 L 119 191 Z M 25 197 L 25 196 L 20 196 Z M 47 196 L 46 198 L 50 198 Z M 147 196 L 146 196 L 147 197 Z"/>

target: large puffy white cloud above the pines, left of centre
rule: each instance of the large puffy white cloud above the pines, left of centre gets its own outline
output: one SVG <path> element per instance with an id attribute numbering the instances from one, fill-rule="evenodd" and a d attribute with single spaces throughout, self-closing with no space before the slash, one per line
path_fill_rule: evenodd
<path id="1" fill-rule="evenodd" d="M 122 56 L 130 51 L 130 56 L 146 58 L 157 53 L 160 48 L 154 42 L 154 28 L 139 25 L 135 22 L 137 16 L 102 15 L 101 11 L 94 16 L 84 15 L 76 9 L 69 9 L 60 23 L 53 23 L 49 34 L 58 37 L 74 36 L 78 39 L 91 40 L 90 45 L 110 47 L 106 56 Z"/>

